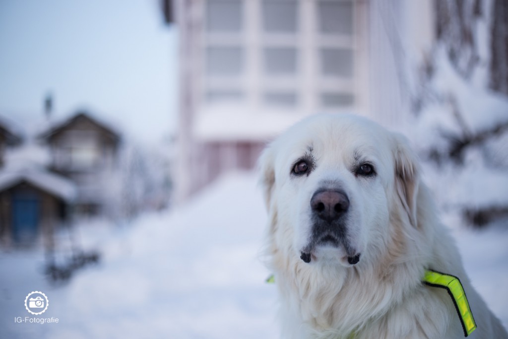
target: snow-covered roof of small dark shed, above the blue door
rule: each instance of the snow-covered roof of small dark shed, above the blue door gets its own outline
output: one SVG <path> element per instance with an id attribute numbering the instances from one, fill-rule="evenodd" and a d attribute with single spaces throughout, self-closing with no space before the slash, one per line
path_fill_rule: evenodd
<path id="1" fill-rule="evenodd" d="M 43 169 L 31 168 L 0 173 L 0 191 L 12 188 L 21 182 L 28 182 L 65 201 L 72 201 L 77 196 L 76 185 L 71 180 Z"/>

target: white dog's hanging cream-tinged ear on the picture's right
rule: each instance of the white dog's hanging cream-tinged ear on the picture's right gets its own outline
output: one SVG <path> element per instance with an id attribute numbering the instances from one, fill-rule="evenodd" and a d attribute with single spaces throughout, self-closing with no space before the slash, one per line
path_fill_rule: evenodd
<path id="1" fill-rule="evenodd" d="M 409 217 L 411 225 L 417 227 L 417 196 L 420 184 L 420 165 L 409 141 L 394 133 L 395 189 Z"/>

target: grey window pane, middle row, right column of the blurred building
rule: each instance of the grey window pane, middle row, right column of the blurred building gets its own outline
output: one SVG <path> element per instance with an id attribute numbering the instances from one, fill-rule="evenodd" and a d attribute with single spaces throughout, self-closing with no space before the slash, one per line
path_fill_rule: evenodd
<path id="1" fill-rule="evenodd" d="M 325 76 L 353 77 L 353 51 L 339 48 L 322 49 L 321 72 Z"/>

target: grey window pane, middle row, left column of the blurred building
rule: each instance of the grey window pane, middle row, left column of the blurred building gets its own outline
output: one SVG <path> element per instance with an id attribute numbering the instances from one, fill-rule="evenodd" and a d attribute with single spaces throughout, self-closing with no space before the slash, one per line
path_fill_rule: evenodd
<path id="1" fill-rule="evenodd" d="M 208 47 L 206 69 L 210 75 L 240 75 L 243 67 L 241 47 Z"/>

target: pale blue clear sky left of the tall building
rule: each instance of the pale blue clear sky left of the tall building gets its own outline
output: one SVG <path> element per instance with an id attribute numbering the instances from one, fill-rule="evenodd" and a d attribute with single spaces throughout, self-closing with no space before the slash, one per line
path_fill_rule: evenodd
<path id="1" fill-rule="evenodd" d="M 157 0 L 0 0 L 0 116 L 30 124 L 88 107 L 127 135 L 174 129 L 177 37 Z"/>

